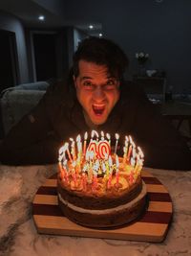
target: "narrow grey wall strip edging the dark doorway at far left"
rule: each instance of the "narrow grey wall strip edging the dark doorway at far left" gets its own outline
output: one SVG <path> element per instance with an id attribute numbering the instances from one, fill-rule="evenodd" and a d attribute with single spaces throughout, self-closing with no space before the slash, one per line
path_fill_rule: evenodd
<path id="1" fill-rule="evenodd" d="M 28 59 L 24 29 L 21 22 L 9 13 L 0 11 L 0 30 L 15 33 L 20 78 L 19 83 L 27 82 L 29 80 Z"/>

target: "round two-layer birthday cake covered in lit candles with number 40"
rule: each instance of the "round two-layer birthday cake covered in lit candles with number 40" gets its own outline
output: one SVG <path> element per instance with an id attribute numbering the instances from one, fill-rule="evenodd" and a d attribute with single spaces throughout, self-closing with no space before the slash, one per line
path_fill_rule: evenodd
<path id="1" fill-rule="evenodd" d="M 95 139 L 96 135 L 96 139 Z M 107 139 L 106 139 L 106 138 Z M 146 204 L 141 179 L 143 153 L 125 136 L 123 157 L 111 149 L 110 136 L 77 136 L 59 150 L 57 196 L 64 216 L 78 224 L 107 228 L 135 221 Z"/>

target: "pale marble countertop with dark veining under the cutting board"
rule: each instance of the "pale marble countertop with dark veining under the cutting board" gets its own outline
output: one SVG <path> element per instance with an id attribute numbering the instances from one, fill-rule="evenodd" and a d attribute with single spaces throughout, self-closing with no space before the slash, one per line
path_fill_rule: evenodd
<path id="1" fill-rule="evenodd" d="M 147 169 L 173 200 L 174 216 L 160 244 L 40 235 L 32 220 L 32 199 L 56 167 L 0 166 L 0 255 L 191 255 L 191 171 Z"/>

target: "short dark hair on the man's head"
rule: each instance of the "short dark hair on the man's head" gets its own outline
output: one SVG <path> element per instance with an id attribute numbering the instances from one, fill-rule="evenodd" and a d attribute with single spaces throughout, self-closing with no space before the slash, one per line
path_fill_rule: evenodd
<path id="1" fill-rule="evenodd" d="M 91 36 L 85 38 L 78 45 L 74 53 L 73 74 L 79 74 L 79 60 L 94 62 L 98 65 L 106 65 L 112 76 L 123 79 L 125 69 L 128 67 L 128 58 L 119 46 L 112 40 Z"/>

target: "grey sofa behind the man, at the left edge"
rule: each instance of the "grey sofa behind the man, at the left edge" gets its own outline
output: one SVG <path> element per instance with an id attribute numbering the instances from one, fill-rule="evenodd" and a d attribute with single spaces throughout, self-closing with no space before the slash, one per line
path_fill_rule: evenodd
<path id="1" fill-rule="evenodd" d="M 19 84 L 7 88 L 1 92 L 1 137 L 4 137 L 10 128 L 14 126 L 45 94 L 50 83 L 48 81 L 36 81 Z"/>

